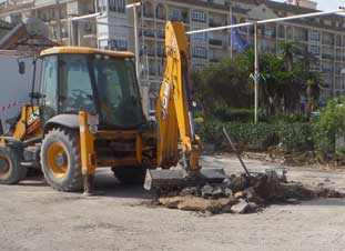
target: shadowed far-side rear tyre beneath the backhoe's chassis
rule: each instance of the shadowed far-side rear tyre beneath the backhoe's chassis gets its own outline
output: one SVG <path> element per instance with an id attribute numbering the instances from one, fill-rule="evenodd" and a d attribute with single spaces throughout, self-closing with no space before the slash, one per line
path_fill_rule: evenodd
<path id="1" fill-rule="evenodd" d="M 111 169 L 121 183 L 143 184 L 146 175 L 145 167 L 119 167 Z"/>

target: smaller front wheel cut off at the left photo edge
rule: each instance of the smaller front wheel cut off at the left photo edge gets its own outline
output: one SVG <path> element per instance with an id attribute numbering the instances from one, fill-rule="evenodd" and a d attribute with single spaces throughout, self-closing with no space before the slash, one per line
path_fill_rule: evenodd
<path id="1" fill-rule="evenodd" d="M 0 147 L 0 184 L 17 184 L 26 179 L 28 168 L 20 165 L 21 159 L 16 149 Z"/>

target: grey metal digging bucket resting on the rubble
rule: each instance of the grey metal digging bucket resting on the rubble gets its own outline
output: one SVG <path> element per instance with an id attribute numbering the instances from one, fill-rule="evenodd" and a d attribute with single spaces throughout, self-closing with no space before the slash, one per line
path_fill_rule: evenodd
<path id="1" fill-rule="evenodd" d="M 223 169 L 201 169 L 194 174 L 185 170 L 148 170 L 144 189 L 186 188 L 205 183 L 222 183 L 226 178 Z"/>

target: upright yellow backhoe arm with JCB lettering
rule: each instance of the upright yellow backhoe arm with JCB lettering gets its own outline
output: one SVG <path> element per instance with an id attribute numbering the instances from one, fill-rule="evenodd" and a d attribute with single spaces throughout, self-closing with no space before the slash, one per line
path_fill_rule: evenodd
<path id="1" fill-rule="evenodd" d="M 187 171 L 196 171 L 201 143 L 194 131 L 191 109 L 189 51 L 183 23 L 166 23 L 165 51 L 166 68 L 156 103 L 158 165 L 164 169 L 177 164 L 180 138 L 184 165 Z"/>

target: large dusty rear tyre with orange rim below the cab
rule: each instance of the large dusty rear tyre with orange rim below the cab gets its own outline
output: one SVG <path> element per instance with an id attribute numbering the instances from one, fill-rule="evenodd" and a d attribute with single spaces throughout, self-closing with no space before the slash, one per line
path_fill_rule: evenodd
<path id="1" fill-rule="evenodd" d="M 62 165 L 57 170 L 58 154 L 49 160 L 51 149 L 62 148 Z M 53 160 L 54 159 L 54 160 Z M 55 163 L 52 163 L 55 161 Z M 80 141 L 78 131 L 62 128 L 50 130 L 42 142 L 41 167 L 47 182 L 54 189 L 64 192 L 79 192 L 83 188 L 80 157 Z"/>

